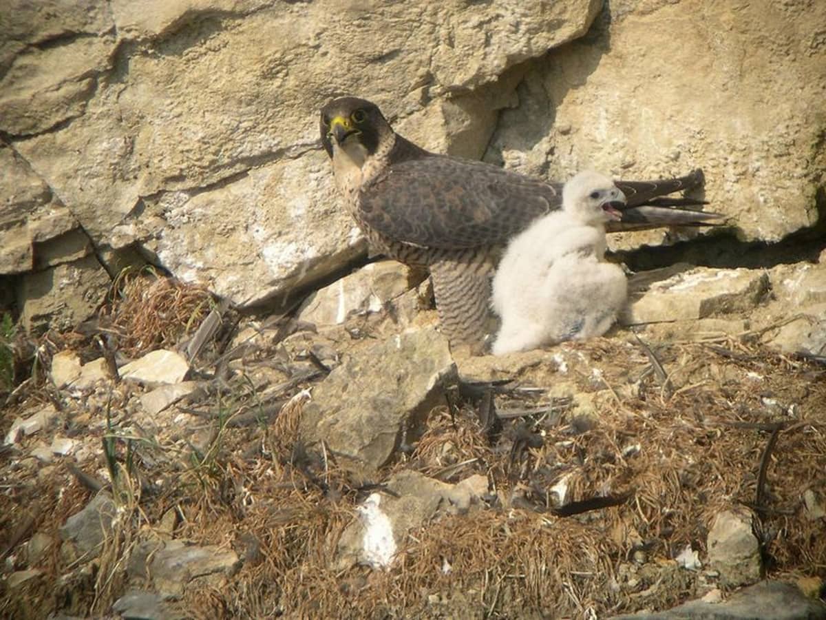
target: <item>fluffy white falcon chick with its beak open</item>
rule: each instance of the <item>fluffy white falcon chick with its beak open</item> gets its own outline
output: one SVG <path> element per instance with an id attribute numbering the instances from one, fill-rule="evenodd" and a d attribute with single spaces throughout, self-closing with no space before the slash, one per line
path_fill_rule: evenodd
<path id="1" fill-rule="evenodd" d="M 628 297 L 623 270 L 602 261 L 605 225 L 618 222 L 625 196 L 586 171 L 563 188 L 563 210 L 515 236 L 493 279 L 502 319 L 493 355 L 601 336 Z"/>

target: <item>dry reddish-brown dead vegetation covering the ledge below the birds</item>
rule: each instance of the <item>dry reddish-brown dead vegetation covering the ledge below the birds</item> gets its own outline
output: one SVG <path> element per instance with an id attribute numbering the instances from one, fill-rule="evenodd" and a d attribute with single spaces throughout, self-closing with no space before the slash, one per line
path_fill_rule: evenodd
<path id="1" fill-rule="evenodd" d="M 167 279 L 121 284 L 104 314 L 128 355 L 180 341 L 211 308 L 204 291 Z M 69 340 L 95 346 L 91 336 Z M 67 338 L 52 341 L 56 349 Z M 284 359 L 278 340 L 268 346 L 254 358 Z M 673 558 L 686 546 L 703 556 L 714 515 L 732 507 L 756 515 L 770 575 L 826 578 L 823 524 L 806 518 L 801 500 L 806 489 L 826 492 L 822 365 L 748 338 L 648 346 L 616 337 L 555 351 L 570 361 L 567 372 L 548 354 L 510 383 L 457 390 L 387 468 L 386 477 L 413 469 L 490 481 L 476 510 L 410 532 L 388 571 L 336 565 L 341 532 L 372 489 L 354 484 L 324 446 L 299 441 L 305 389 L 323 378 L 306 374 L 309 363 L 287 355 L 278 365 L 287 380 L 266 399 L 243 365 L 229 379 L 207 377 L 211 388 L 188 407 L 209 415 L 186 429 L 171 418 L 141 426 L 128 390 L 114 400 L 110 392 L 112 423 L 83 418 L 90 423 L 78 432 L 109 441 L 102 484 L 114 480 L 121 506 L 112 536 L 91 564 L 53 549 L 40 577 L 2 593 L 0 614 L 105 613 L 126 585 L 136 541 L 170 535 L 243 560 L 226 584 L 190 584 L 177 605 L 192 618 L 591 618 L 663 608 L 700 591 L 702 575 Z M 553 388 L 563 382 L 581 394 L 560 398 Z M 59 403 L 77 424 L 77 405 Z M 507 414 L 495 423 L 497 409 Z M 63 465 L 0 458 L 11 499 L 0 543 L 7 565 L 23 565 L 17 546 L 36 531 L 59 540 L 59 525 L 91 494 Z M 106 466 L 98 455 L 83 470 Z M 595 498 L 615 505 L 559 516 L 593 508 Z M 166 534 L 164 522 L 173 524 Z"/>

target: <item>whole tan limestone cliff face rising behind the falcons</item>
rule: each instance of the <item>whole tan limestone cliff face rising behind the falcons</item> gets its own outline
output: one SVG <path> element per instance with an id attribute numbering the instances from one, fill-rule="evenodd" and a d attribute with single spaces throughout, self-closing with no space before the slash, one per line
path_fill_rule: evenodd
<path id="1" fill-rule="evenodd" d="M 143 261 L 241 304 L 323 279 L 365 250 L 316 145 L 343 93 L 431 149 L 553 179 L 701 167 L 741 240 L 777 241 L 818 217 L 826 5 L 724 4 L 17 2 L 0 274 L 31 327 L 83 318 Z M 95 284 L 64 306 L 58 281 Z"/>

